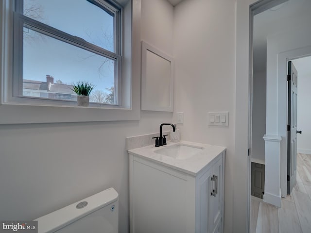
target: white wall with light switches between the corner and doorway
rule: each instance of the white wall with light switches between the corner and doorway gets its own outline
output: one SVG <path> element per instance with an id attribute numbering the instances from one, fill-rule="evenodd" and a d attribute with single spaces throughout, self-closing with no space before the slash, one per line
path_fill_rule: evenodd
<path id="1" fill-rule="evenodd" d="M 235 2 L 185 0 L 174 9 L 174 113 L 183 140 L 227 147 L 225 232 L 232 232 L 235 124 Z M 229 127 L 209 127 L 207 112 L 229 111 Z M 174 117 L 176 117 L 174 115 Z"/>

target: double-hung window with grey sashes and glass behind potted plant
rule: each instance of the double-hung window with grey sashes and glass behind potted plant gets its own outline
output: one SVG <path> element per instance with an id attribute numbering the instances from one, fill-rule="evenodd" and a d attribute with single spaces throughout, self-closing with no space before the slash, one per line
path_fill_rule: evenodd
<path id="1" fill-rule="evenodd" d="M 120 106 L 121 16 L 107 0 L 16 0 L 13 100 L 72 105 L 87 81 L 90 106 Z"/>

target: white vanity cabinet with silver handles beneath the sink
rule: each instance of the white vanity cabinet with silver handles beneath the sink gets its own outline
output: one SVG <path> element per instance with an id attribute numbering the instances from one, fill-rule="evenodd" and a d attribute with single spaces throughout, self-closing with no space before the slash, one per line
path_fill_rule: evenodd
<path id="1" fill-rule="evenodd" d="M 207 164 L 193 158 L 177 166 L 130 150 L 130 232 L 222 233 L 225 148 L 218 148 Z"/>

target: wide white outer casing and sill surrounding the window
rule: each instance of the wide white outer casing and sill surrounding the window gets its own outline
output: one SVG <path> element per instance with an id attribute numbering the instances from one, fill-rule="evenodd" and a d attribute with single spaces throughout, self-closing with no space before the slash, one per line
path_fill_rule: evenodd
<path id="1" fill-rule="evenodd" d="M 122 1 L 124 28 L 121 30 L 123 35 L 122 79 L 119 90 L 121 104 L 78 107 L 76 104 L 49 105 L 42 101 L 31 104 L 13 99 L 14 4 L 12 0 L 2 0 L 0 2 L 0 124 L 139 120 L 140 1 L 128 0 L 126 3 Z"/>

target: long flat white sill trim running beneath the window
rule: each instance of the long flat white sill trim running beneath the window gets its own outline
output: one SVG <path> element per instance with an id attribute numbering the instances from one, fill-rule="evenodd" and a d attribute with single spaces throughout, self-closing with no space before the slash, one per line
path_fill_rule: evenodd
<path id="1" fill-rule="evenodd" d="M 139 120 L 140 109 L 80 106 L 0 105 L 0 124 Z"/>

